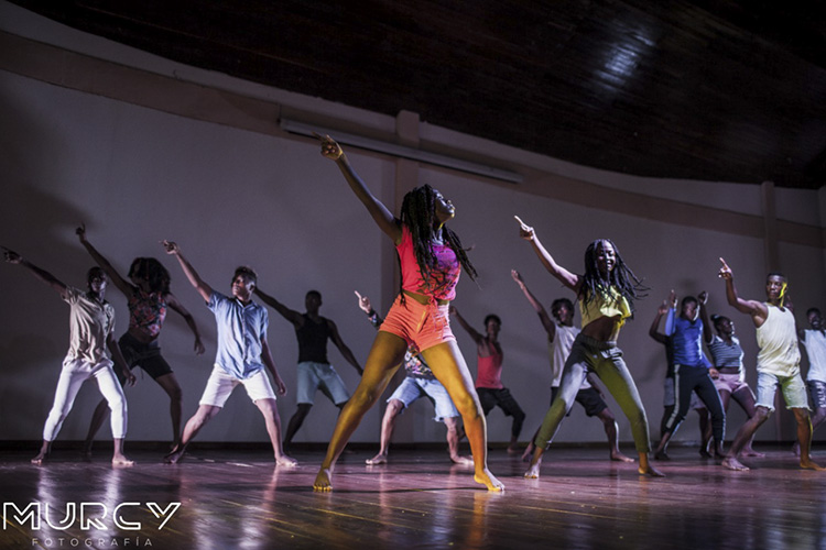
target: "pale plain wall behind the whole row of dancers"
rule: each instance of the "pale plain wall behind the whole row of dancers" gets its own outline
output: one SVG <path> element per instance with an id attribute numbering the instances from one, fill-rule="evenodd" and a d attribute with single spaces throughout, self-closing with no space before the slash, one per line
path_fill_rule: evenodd
<path id="1" fill-rule="evenodd" d="M 100 55 L 122 53 L 118 59 L 159 73 L 171 72 L 170 62 L 140 52 L 111 46 L 107 41 L 66 30 L 0 2 L 3 30 L 67 50 Z M 17 25 L 17 26 L 15 26 Z M 55 32 L 58 29 L 59 32 Z M 59 40 L 55 37 L 59 36 Z M 96 50 L 97 48 L 97 50 Z M 210 86 L 247 96 L 276 98 L 282 105 L 314 108 L 316 112 L 354 118 L 359 111 L 264 89 L 221 75 L 194 68 L 192 79 L 208 79 Z M 367 118 L 392 128 L 392 119 L 374 113 Z M 287 306 L 303 310 L 306 290 L 324 295 L 322 314 L 334 319 L 344 340 L 363 362 L 374 337 L 363 314 L 356 308 L 354 289 L 381 299 L 387 286 L 382 254 L 388 243 L 363 208 L 351 195 L 336 167 L 322 158 L 317 145 L 286 135 L 273 136 L 238 130 L 231 125 L 202 122 L 45 84 L 0 70 L 0 244 L 12 248 L 32 262 L 52 271 L 66 283 L 83 285 L 93 264 L 74 235 L 85 222 L 89 240 L 126 273 L 134 256 L 154 255 L 170 268 L 173 290 L 194 314 L 206 336 L 207 354 L 196 358 L 192 337 L 182 319 L 170 314 L 161 337 L 164 354 L 184 389 L 184 416 L 196 408 L 215 353 L 215 323 L 199 297 L 189 287 L 172 258 L 157 243 L 173 239 L 203 277 L 218 289 L 228 289 L 238 264 L 254 266 L 262 289 Z M 720 183 L 696 183 L 634 178 L 587 167 L 572 166 L 470 136 L 456 136 L 426 128 L 428 136 L 450 135 L 455 143 L 470 143 L 480 154 L 510 156 L 513 163 L 553 170 L 561 176 L 624 191 L 670 198 L 680 202 L 732 212 L 760 215 L 760 187 Z M 395 163 L 377 155 L 350 154 L 354 165 L 374 193 L 392 197 Z M 757 353 L 753 328 L 747 317 L 725 302 L 717 278 L 718 257 L 735 270 L 741 294 L 763 296 L 763 242 L 736 231 L 704 229 L 702 216 L 695 226 L 669 221 L 669 212 L 632 217 L 605 208 L 595 209 L 526 193 L 526 187 L 498 185 L 457 173 L 423 167 L 420 182 L 441 189 L 457 207 L 453 228 L 466 245 L 480 279 L 465 278 L 456 306 L 481 329 L 488 312 L 503 321 L 501 341 L 506 352 L 503 381 L 528 414 L 522 433 L 526 440 L 547 408 L 548 360 L 544 332 L 535 315 L 511 280 L 510 270 L 524 276 L 546 305 L 567 292 L 542 268 L 530 246 L 519 240 L 514 213 L 536 228 L 543 242 L 563 265 L 582 271 L 583 252 L 596 238 L 611 238 L 627 261 L 650 287 L 649 297 L 637 305 L 637 318 L 627 324 L 620 345 L 638 383 L 649 414 L 652 437 L 659 436 L 662 414 L 662 348 L 648 337 L 660 301 L 671 288 L 680 295 L 710 293 L 711 312 L 732 317 L 747 354 L 748 381 L 754 385 Z M 565 182 L 559 185 L 576 185 Z M 627 200 L 633 200 L 628 195 Z M 822 202 L 816 191 L 779 190 L 778 215 L 783 219 L 819 224 Z M 620 205 L 618 205 L 620 206 Z M 800 310 L 826 306 L 822 285 L 823 251 L 816 246 L 781 243 L 781 262 L 787 273 Z M 163 256 L 163 257 L 162 257 Z M 22 268 L 0 265 L 0 286 L 7 289 L 0 305 L 0 439 L 36 440 L 51 406 L 54 386 L 68 339 L 67 307 L 58 296 Z M 108 294 L 118 318 L 120 336 L 128 323 L 126 301 L 116 288 Z M 570 298 L 572 296 L 568 295 Z M 387 308 L 388 304 L 381 304 Z M 270 342 L 290 394 L 279 400 L 282 420 L 295 409 L 295 360 L 297 345 L 292 327 L 271 311 Z M 475 349 L 460 327 L 459 344 L 475 373 Z M 330 346 L 330 360 L 348 387 L 357 375 Z M 149 377 L 139 377 L 128 392 L 129 438 L 164 440 L 170 436 L 167 399 Z M 83 439 L 97 404 L 96 388 L 88 384 L 77 398 L 61 439 Z M 609 403 L 613 403 L 609 400 Z M 318 394 L 296 441 L 326 441 L 337 409 Z M 628 422 L 618 407 L 620 438 L 630 441 Z M 366 418 L 354 441 L 378 441 L 381 409 Z M 430 405 L 419 404 L 404 415 L 396 441 L 443 441 L 444 428 L 431 421 Z M 728 437 L 743 420 L 732 406 Z M 789 415 L 784 414 L 784 421 Z M 492 441 L 507 441 L 510 421 L 500 410 L 488 419 Z M 108 437 L 108 430 L 101 437 Z M 791 438 L 791 431 L 784 437 Z M 776 437 L 771 424 L 759 439 Z M 823 436 L 820 436 L 823 437 Z M 696 419 L 689 417 L 677 440 L 696 440 Z M 819 438 L 818 438 L 819 439 Z M 199 436 L 203 441 L 264 441 L 259 413 L 240 389 Z M 574 409 L 562 427 L 558 441 L 604 441 L 601 424 Z"/>

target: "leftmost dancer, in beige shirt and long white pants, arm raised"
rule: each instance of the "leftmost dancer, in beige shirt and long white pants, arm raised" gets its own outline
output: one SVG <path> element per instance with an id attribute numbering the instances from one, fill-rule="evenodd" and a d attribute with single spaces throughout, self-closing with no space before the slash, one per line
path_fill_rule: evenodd
<path id="1" fill-rule="evenodd" d="M 37 267 L 9 249 L 3 248 L 6 261 L 22 265 L 36 278 L 57 290 L 61 298 L 69 305 L 69 349 L 63 360 L 61 377 L 55 389 L 54 404 L 43 427 L 43 443 L 40 452 L 32 459 L 32 464 L 42 464 L 52 450 L 52 441 L 61 431 L 63 421 L 72 410 L 77 392 L 87 380 L 94 377 L 98 389 L 111 409 L 111 429 L 115 440 L 112 464 L 132 465 L 133 462 L 123 454 L 123 438 L 127 433 L 127 398 L 112 371 L 112 359 L 123 373 L 127 384 L 135 383 L 134 374 L 129 370 L 118 342 L 115 341 L 115 308 L 106 301 L 106 273 L 100 267 L 93 267 L 86 275 L 86 292 L 66 286 L 51 273 Z"/>

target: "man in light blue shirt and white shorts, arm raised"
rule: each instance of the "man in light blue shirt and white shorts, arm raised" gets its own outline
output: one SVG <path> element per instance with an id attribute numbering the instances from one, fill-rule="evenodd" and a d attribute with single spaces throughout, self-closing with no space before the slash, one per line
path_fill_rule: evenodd
<path id="1" fill-rule="evenodd" d="M 275 454 L 275 463 L 294 466 L 297 461 L 281 448 L 281 417 L 275 406 L 275 394 L 265 371 L 270 371 L 279 395 L 286 394 L 286 386 L 279 376 L 275 362 L 267 342 L 269 317 L 267 309 L 252 301 L 252 293 L 258 284 L 258 275 L 251 267 L 240 266 L 232 275 L 232 298 L 213 290 L 181 253 L 181 248 L 171 241 L 163 241 L 167 254 L 175 256 L 186 278 L 206 301 L 215 315 L 218 328 L 218 350 L 215 365 L 207 381 L 204 395 L 195 415 L 186 421 L 181 444 L 165 458 L 176 463 L 186 452 L 189 441 L 206 424 L 224 408 L 230 394 L 242 384 L 252 403 L 261 411 L 267 425 L 267 433 Z"/>

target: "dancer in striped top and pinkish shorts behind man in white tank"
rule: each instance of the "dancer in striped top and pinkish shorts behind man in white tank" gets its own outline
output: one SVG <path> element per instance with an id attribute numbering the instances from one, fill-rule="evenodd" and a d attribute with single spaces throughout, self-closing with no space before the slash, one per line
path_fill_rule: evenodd
<path id="1" fill-rule="evenodd" d="M 754 393 L 746 382 L 746 370 L 742 366 L 743 351 L 740 348 L 740 340 L 735 336 L 735 323 L 728 317 L 719 315 L 713 315 L 711 322 L 717 334 L 706 342 L 714 360 L 714 366 L 709 369 L 708 374 L 720 394 L 722 408 L 728 415 L 728 406 L 733 397 L 749 418 L 753 418 L 757 414 L 757 404 Z M 751 443 L 752 441 L 749 440 L 740 451 L 742 457 L 765 457 L 764 453 L 752 449 Z"/>

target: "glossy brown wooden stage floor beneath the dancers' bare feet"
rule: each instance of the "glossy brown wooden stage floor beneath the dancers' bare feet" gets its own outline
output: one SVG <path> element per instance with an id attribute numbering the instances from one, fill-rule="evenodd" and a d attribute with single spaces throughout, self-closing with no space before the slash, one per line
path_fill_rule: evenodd
<path id="1" fill-rule="evenodd" d="M 826 548 L 826 472 L 800 470 L 787 447 L 757 447 L 768 455 L 748 461 L 756 466 L 749 472 L 674 448 L 672 461 L 656 463 L 665 479 L 609 462 L 602 449 L 552 448 L 540 480 L 522 479 L 524 463 L 496 449 L 489 464 L 503 494 L 479 488 L 470 469 L 433 449 L 391 448 L 390 464 L 380 466 L 365 464 L 367 450 L 348 452 L 328 494 L 311 487 L 320 451 L 294 452 L 301 465 L 293 470 L 250 450 L 195 449 L 176 465 L 134 451 L 138 463 L 129 469 L 113 469 L 102 450 L 91 462 L 57 450 L 43 466 L 29 463 L 34 448 L 3 451 L 0 548 Z M 819 449 L 814 458 L 826 463 Z M 39 503 L 40 529 L 9 503 L 20 512 Z M 46 513 L 63 527 L 69 503 L 75 521 L 69 516 L 65 530 L 50 527 Z M 88 526 L 80 522 L 81 503 L 93 517 Z M 107 515 L 100 519 L 100 505 L 106 506 Z M 181 503 L 174 514 L 170 503 Z M 118 505 L 121 528 L 112 518 Z M 167 510 L 162 529 L 153 509 L 162 518 Z M 130 524 L 140 529 L 124 529 Z"/>

